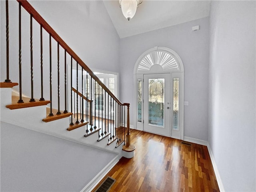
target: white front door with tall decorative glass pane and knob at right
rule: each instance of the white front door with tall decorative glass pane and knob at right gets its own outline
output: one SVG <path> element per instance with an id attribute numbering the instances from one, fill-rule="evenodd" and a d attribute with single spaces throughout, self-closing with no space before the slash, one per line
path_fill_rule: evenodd
<path id="1" fill-rule="evenodd" d="M 170 74 L 144 74 L 143 79 L 143 129 L 146 132 L 170 137 Z"/>

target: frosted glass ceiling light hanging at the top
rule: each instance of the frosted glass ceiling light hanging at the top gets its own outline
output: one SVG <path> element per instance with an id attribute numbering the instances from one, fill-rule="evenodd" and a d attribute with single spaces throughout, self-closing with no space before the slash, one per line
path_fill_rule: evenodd
<path id="1" fill-rule="evenodd" d="M 119 6 L 122 13 L 128 21 L 134 17 L 137 6 L 142 3 L 142 0 L 119 0 Z"/>

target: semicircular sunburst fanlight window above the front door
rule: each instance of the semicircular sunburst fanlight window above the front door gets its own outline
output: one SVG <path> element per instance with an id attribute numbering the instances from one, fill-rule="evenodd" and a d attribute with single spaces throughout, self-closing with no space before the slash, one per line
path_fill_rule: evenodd
<path id="1" fill-rule="evenodd" d="M 146 55 L 138 66 L 138 72 L 149 71 L 150 68 L 158 64 L 163 70 L 179 70 L 176 60 L 167 52 L 154 51 Z"/>

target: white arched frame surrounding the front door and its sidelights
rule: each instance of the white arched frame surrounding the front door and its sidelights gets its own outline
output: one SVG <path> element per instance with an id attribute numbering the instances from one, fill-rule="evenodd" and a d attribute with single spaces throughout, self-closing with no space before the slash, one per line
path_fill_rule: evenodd
<path id="1" fill-rule="evenodd" d="M 155 63 L 148 63 L 146 65 L 143 65 L 144 58 L 148 57 L 150 54 L 157 54 L 158 52 L 163 52 L 169 54 L 174 60 L 175 60 L 175 67 L 171 68 L 164 68 L 164 66 L 161 66 L 160 64 Z M 150 58 L 149 58 L 150 60 Z M 146 66 L 146 67 L 145 67 Z M 149 66 L 149 67 L 148 67 Z M 166 47 L 154 47 L 147 51 L 145 51 L 136 61 L 136 64 L 134 66 L 134 128 L 137 130 L 143 130 L 143 121 L 137 122 L 137 116 L 138 116 L 138 79 L 143 80 L 144 74 L 156 74 L 156 73 L 170 73 L 171 75 L 171 88 L 172 88 L 172 80 L 175 77 L 179 78 L 179 89 L 180 89 L 180 95 L 179 95 L 179 130 L 180 133 L 177 136 L 177 134 L 172 135 L 173 138 L 178 138 L 183 140 L 184 139 L 184 66 L 183 62 L 178 56 L 178 54 L 169 48 Z M 143 83 L 142 83 L 142 90 L 143 90 Z M 142 98 L 144 97 L 143 91 L 142 91 Z M 171 96 L 171 100 L 173 100 L 173 96 Z M 171 102 L 172 103 L 172 102 Z M 143 103 L 142 103 L 143 105 Z M 172 106 L 171 106 L 172 107 Z M 143 106 L 142 106 L 143 110 Z M 171 113 L 172 115 L 172 113 Z M 142 120 L 143 120 L 143 112 L 142 112 Z M 172 119 L 172 116 L 170 117 Z M 172 129 L 172 123 L 170 124 L 171 132 L 174 132 Z"/>

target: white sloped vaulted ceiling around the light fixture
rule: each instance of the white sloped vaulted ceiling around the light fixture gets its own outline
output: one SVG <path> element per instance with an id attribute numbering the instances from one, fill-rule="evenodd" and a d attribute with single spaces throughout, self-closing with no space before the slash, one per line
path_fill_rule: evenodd
<path id="1" fill-rule="evenodd" d="M 209 0 L 143 0 L 134 18 L 128 21 L 118 0 L 103 2 L 120 38 L 204 18 L 210 11 Z"/>

